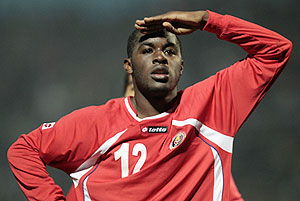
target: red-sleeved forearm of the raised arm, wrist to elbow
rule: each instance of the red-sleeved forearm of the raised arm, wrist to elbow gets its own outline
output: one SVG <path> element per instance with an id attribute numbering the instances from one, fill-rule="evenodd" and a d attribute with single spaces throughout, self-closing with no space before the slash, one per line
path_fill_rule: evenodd
<path id="1" fill-rule="evenodd" d="M 249 57 L 265 64 L 279 64 L 280 67 L 289 59 L 292 43 L 280 34 L 230 15 L 208 12 L 210 17 L 203 30 L 239 45 Z"/>

